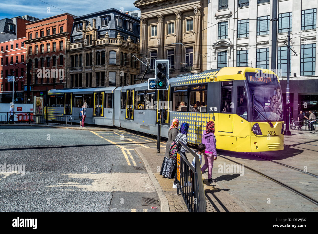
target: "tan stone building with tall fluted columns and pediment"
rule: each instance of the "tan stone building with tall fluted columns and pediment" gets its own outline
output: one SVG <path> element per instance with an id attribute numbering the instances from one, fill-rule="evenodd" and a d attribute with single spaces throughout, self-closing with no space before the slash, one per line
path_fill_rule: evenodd
<path id="1" fill-rule="evenodd" d="M 134 5 L 141 10 L 140 53 L 149 57 L 148 74 L 154 74 L 156 59 L 169 59 L 170 77 L 206 70 L 207 1 L 137 0 Z"/>

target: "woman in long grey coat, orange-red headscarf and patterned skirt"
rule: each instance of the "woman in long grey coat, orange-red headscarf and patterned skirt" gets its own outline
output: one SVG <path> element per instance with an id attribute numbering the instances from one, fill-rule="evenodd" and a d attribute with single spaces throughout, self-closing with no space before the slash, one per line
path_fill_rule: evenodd
<path id="1" fill-rule="evenodd" d="M 176 139 L 176 136 L 179 133 L 178 126 L 179 126 L 179 120 L 173 119 L 172 124 L 169 128 L 169 132 L 168 132 L 169 138 L 166 145 L 166 153 L 164 155 L 164 160 L 162 162 L 162 166 L 160 170 L 160 174 L 163 175 L 163 177 L 165 178 L 174 178 L 176 174 L 176 167 L 175 167 L 176 160 L 170 159 L 169 151 L 170 151 L 171 143 Z"/>

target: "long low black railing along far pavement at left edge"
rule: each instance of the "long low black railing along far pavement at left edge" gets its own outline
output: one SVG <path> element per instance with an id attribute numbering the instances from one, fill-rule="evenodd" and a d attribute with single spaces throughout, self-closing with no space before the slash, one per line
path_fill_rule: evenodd
<path id="1" fill-rule="evenodd" d="M 13 113 L 10 117 L 10 112 L 0 112 L 0 124 L 54 124 L 54 125 L 73 125 L 72 116 L 57 113 Z"/>

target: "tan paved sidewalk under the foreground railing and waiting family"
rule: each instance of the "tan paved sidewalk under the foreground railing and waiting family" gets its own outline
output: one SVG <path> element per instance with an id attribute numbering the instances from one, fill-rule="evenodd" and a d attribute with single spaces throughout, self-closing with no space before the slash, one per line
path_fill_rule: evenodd
<path id="1" fill-rule="evenodd" d="M 139 148 L 136 151 L 141 158 L 144 158 L 149 164 L 156 181 L 159 183 L 164 195 L 168 199 L 170 212 L 188 212 L 187 207 L 183 201 L 182 196 L 176 194 L 176 189 L 172 188 L 174 179 L 166 179 L 160 175 L 160 169 L 162 161 L 164 159 L 164 149 L 161 149 L 162 153 L 157 153 L 156 149 Z M 142 154 L 142 155 L 140 155 Z M 192 161 L 191 156 L 187 154 L 188 160 Z M 250 212 L 255 211 L 249 209 L 242 204 L 239 200 L 235 199 L 232 195 L 229 195 L 226 189 L 222 189 L 216 183 L 207 183 L 207 175 L 204 177 L 204 189 L 206 195 L 206 211 L 207 212 Z M 206 177 L 206 178 L 205 178 Z M 156 182 L 155 181 L 155 182 Z M 158 192 L 158 191 L 157 191 Z"/>

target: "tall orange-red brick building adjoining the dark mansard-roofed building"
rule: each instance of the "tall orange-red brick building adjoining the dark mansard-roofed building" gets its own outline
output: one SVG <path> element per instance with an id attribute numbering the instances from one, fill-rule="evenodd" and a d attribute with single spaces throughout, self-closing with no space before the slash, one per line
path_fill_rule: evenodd
<path id="1" fill-rule="evenodd" d="M 66 87 L 65 51 L 73 28 L 73 17 L 75 16 L 64 13 L 25 24 L 26 61 L 31 63 L 31 79 L 27 81 L 31 86 L 31 103 L 33 96 L 43 95 L 46 88 L 50 90 Z M 55 73 L 52 71 L 55 69 L 59 70 L 59 77 L 54 77 Z"/>

